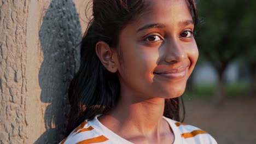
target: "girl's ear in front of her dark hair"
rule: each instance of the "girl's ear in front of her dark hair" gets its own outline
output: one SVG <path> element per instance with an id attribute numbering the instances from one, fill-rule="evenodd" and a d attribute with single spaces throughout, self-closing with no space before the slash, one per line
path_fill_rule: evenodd
<path id="1" fill-rule="evenodd" d="M 100 58 L 101 63 L 104 65 L 104 67 L 112 72 L 115 73 L 118 70 L 117 62 L 115 62 L 113 57 L 116 57 L 117 53 L 113 52 L 109 45 L 105 43 L 104 41 L 98 41 L 95 47 L 96 53 L 98 58 Z"/>

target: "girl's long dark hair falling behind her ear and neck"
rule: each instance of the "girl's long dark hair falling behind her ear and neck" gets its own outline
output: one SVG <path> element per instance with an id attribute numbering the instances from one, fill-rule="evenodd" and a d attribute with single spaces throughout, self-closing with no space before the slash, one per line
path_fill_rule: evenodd
<path id="1" fill-rule="evenodd" d="M 195 2 L 187 2 L 196 24 Z M 80 43 L 80 68 L 68 89 L 71 110 L 66 135 L 85 119 L 106 113 L 117 105 L 120 93 L 118 76 L 103 67 L 96 55 L 95 45 L 104 41 L 110 47 L 116 47 L 121 30 L 147 9 L 146 0 L 94 0 L 92 5 L 93 18 Z M 179 111 L 178 98 L 165 100 L 164 116 L 180 121 Z"/>

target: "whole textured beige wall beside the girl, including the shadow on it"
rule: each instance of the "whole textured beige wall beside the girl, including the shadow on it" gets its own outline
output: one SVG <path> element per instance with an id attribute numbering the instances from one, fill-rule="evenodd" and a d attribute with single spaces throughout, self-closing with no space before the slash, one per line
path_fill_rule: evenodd
<path id="1" fill-rule="evenodd" d="M 0 143 L 63 139 L 83 33 L 74 3 L 84 13 L 81 1 L 0 1 Z"/>

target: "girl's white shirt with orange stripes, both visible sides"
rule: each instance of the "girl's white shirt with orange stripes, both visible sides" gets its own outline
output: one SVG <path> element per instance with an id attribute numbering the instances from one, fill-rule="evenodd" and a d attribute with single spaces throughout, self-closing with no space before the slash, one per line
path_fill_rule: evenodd
<path id="1" fill-rule="evenodd" d="M 99 116 L 99 115 L 98 115 Z M 84 121 L 77 128 L 75 128 L 66 139 L 62 140 L 60 144 L 131 144 L 131 142 L 123 139 L 113 131 L 109 130 L 101 124 L 96 116 L 90 121 Z M 170 118 L 163 117 L 173 130 L 174 142 L 173 144 L 215 144 L 217 143 L 213 137 L 205 131 L 196 128 L 192 125 L 183 124 L 173 121 Z"/>

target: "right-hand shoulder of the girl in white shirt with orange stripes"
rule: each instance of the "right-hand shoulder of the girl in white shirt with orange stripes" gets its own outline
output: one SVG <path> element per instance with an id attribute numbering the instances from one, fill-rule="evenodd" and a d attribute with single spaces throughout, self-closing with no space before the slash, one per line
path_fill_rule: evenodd
<path id="1" fill-rule="evenodd" d="M 177 122 L 167 117 L 164 117 L 164 119 L 166 119 L 173 130 L 174 137 L 177 140 L 174 143 L 217 143 L 210 134 L 200 128 Z"/>

